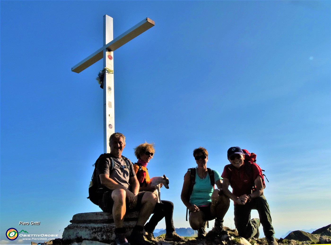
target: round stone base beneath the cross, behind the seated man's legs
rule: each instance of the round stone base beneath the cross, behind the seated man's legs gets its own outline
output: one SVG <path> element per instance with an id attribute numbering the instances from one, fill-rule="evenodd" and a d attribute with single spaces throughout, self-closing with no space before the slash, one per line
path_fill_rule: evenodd
<path id="1" fill-rule="evenodd" d="M 124 216 L 126 235 L 131 234 L 136 225 L 138 212 L 127 213 Z M 98 241 L 112 244 L 115 241 L 115 224 L 111 213 L 94 212 L 75 214 L 63 231 L 62 244 L 72 244 L 83 240 Z"/>

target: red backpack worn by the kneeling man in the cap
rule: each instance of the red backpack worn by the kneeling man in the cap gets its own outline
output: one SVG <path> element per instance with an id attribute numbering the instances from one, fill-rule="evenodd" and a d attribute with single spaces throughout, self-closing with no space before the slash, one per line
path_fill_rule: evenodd
<path id="1" fill-rule="evenodd" d="M 247 151 L 246 149 L 242 150 L 243 153 L 245 154 L 245 160 L 244 160 L 244 167 L 245 167 L 245 172 L 249 177 L 252 177 L 253 179 L 253 170 L 252 170 L 252 164 L 256 163 L 256 154 L 255 153 L 250 153 L 249 151 Z M 260 166 L 258 164 L 256 164 L 257 167 L 261 170 L 261 172 L 264 170 L 260 168 Z M 229 164 L 228 168 L 227 168 L 227 175 L 229 177 L 229 184 L 231 185 L 231 175 L 232 175 L 232 170 L 233 170 L 233 165 Z M 263 189 L 265 188 L 265 182 L 264 182 L 264 177 L 265 179 L 269 182 L 269 180 L 267 179 L 267 177 L 265 176 L 265 174 L 262 173 L 261 179 L 262 179 L 262 186 Z M 254 181 L 254 180 L 253 180 Z M 252 191 L 255 191 L 255 184 L 253 184 L 252 186 Z"/>

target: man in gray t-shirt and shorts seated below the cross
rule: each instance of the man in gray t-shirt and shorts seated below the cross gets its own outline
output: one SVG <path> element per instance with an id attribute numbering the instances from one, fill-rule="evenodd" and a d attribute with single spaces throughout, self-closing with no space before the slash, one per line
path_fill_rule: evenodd
<path id="1" fill-rule="evenodd" d="M 125 137 L 114 133 L 109 139 L 110 153 L 100 157 L 97 163 L 97 182 L 104 192 L 99 207 L 104 212 L 113 213 L 115 223 L 115 245 L 150 245 L 143 236 L 143 226 L 152 214 L 156 204 L 156 196 L 152 192 L 139 192 L 139 182 L 132 162 L 122 156 Z M 110 160 L 112 157 L 112 161 Z M 123 227 L 126 212 L 139 211 L 136 226 L 128 237 Z"/>

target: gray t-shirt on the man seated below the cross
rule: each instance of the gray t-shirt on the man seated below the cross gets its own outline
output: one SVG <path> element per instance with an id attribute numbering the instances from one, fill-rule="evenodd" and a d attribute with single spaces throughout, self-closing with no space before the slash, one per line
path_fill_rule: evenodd
<path id="1" fill-rule="evenodd" d="M 110 156 L 113 157 L 114 168 L 111 171 L 111 173 L 109 174 L 109 169 L 112 168 L 111 161 L 109 159 Z M 130 160 L 129 160 L 129 163 L 130 163 L 129 168 L 131 168 L 131 170 L 126 167 L 126 163 L 122 157 L 117 158 L 117 157 L 111 155 L 110 153 L 101 156 L 97 163 L 98 165 L 97 165 L 97 170 L 96 170 L 98 186 L 100 186 L 100 187 L 103 186 L 103 185 L 101 185 L 99 175 L 108 174 L 109 178 L 114 180 L 116 183 L 124 186 L 125 188 L 128 188 L 129 187 L 129 178 L 136 175 L 134 172 L 134 169 L 133 169 L 133 164 Z M 115 168 L 115 167 L 119 167 L 119 166 L 125 166 L 125 168 Z"/>

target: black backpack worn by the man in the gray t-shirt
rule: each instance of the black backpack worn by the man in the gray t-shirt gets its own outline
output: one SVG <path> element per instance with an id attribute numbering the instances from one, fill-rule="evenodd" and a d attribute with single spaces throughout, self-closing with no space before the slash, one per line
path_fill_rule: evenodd
<path id="1" fill-rule="evenodd" d="M 90 201 L 92 203 L 94 203 L 95 205 L 99 205 L 99 201 L 100 199 L 102 198 L 103 194 L 107 191 L 108 188 L 106 187 L 99 187 L 98 186 L 98 182 L 97 182 L 97 164 L 98 164 L 98 161 L 101 157 L 108 157 L 110 162 L 111 162 L 111 167 L 109 169 L 109 174 L 111 174 L 111 171 L 114 169 L 114 168 L 128 168 L 129 171 L 131 172 L 131 168 L 130 168 L 130 161 L 128 158 L 126 158 L 125 156 L 122 156 L 122 159 L 124 160 L 126 166 L 116 166 L 114 167 L 114 161 L 113 161 L 113 157 L 110 153 L 103 153 L 101 154 L 98 159 L 95 161 L 95 163 L 92 165 L 94 166 L 94 171 L 93 171 L 93 174 L 92 174 L 92 178 L 91 178 L 91 181 L 90 181 L 90 185 L 88 187 L 88 199 L 90 199 Z M 131 173 L 132 174 L 132 173 Z"/>

